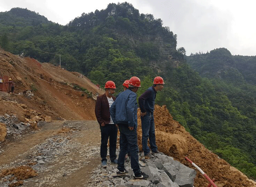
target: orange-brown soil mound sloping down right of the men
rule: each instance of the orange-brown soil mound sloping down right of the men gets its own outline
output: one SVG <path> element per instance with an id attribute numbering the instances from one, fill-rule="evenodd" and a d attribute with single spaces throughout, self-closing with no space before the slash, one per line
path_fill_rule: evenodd
<path id="1" fill-rule="evenodd" d="M 140 110 L 138 110 L 140 116 Z M 232 167 L 225 160 L 210 152 L 185 130 L 177 121 L 173 120 L 166 106 L 155 105 L 154 110 L 156 144 L 158 150 L 173 157 L 184 165 L 194 168 L 184 158 L 185 156 L 200 167 L 218 187 L 255 187 L 256 183 L 238 169 Z M 138 144 L 142 151 L 141 120 L 138 117 Z M 207 187 L 207 179 L 196 170 L 194 186 Z"/>

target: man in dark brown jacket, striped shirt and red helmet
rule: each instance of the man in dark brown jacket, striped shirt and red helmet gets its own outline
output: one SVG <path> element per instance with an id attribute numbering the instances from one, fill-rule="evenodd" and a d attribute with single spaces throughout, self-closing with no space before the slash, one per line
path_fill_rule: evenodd
<path id="1" fill-rule="evenodd" d="M 105 93 L 98 96 L 95 104 L 95 116 L 100 124 L 101 145 L 100 157 L 102 158 L 102 167 L 107 167 L 107 152 L 109 138 L 109 156 L 112 163 L 117 163 L 116 159 L 116 139 L 117 127 L 114 124 L 109 108 L 116 99 L 112 96 L 115 93 L 116 85 L 113 81 L 107 81 L 105 84 Z"/>

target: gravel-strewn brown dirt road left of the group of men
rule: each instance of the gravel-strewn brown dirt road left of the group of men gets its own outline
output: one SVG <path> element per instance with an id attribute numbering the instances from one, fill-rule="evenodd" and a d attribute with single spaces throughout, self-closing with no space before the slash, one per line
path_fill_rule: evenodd
<path id="1" fill-rule="evenodd" d="M 18 142 L 2 147 L 0 169 L 16 170 L 12 173 L 14 177 L 3 177 L 0 186 L 14 186 L 18 179 L 26 176 L 24 173 L 27 177 L 32 176 L 30 169 L 22 171 L 21 165 L 31 167 L 36 171 L 35 175 L 38 174 L 21 180 L 24 187 L 86 186 L 90 172 L 100 163 L 98 122 L 54 121 L 45 122 L 39 128 L 40 131 L 26 134 Z"/>

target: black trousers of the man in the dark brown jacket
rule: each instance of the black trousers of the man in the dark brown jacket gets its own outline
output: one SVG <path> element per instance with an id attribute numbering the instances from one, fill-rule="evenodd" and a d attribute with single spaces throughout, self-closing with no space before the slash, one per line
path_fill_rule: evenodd
<path id="1" fill-rule="evenodd" d="M 101 132 L 101 145 L 100 145 L 100 157 L 101 161 L 107 161 L 108 152 L 108 138 L 109 138 L 109 157 L 111 161 L 116 159 L 116 139 L 117 139 L 117 127 L 115 124 L 106 124 L 100 126 Z"/>

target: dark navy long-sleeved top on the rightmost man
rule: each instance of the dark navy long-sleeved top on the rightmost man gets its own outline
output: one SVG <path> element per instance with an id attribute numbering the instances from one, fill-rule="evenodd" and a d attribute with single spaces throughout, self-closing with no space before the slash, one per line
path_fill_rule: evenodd
<path id="1" fill-rule="evenodd" d="M 155 99 L 156 99 L 156 90 L 154 89 L 154 87 L 149 87 L 139 97 L 140 111 L 154 112 Z"/>

